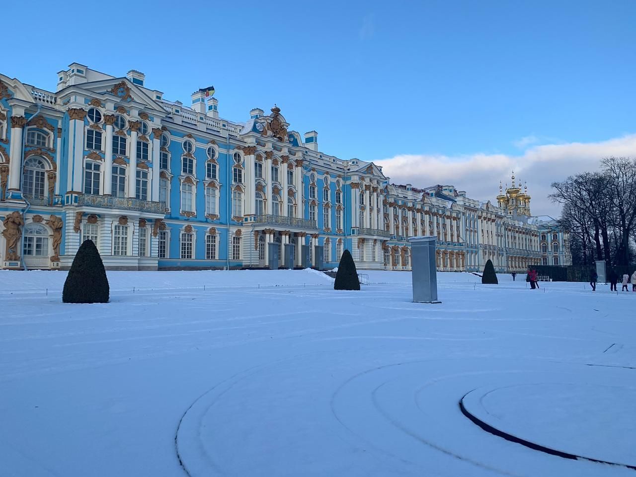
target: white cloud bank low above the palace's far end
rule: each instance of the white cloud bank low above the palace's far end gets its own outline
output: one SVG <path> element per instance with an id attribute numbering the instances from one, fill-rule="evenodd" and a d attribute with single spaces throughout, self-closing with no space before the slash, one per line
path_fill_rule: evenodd
<path id="1" fill-rule="evenodd" d="M 521 155 L 476 153 L 466 156 L 397 155 L 377 161 L 392 183 L 426 187 L 448 184 L 466 190 L 468 197 L 496 204 L 499 181 L 510 184 L 511 170 L 516 180 L 528 184 L 533 215 L 558 216 L 560 206 L 548 199 L 550 184 L 571 174 L 597 170 L 607 156 L 634 156 L 636 134 L 602 142 L 543 144 L 528 148 Z"/>

